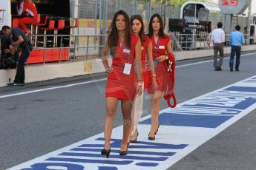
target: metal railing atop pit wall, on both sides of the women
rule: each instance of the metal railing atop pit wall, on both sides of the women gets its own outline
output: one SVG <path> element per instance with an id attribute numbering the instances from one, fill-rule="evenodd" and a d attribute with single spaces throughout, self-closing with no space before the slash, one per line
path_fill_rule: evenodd
<path id="1" fill-rule="evenodd" d="M 209 35 L 180 33 L 176 35 L 168 33 L 168 35 L 171 36 L 174 52 L 209 49 L 206 44 Z M 34 44 L 36 38 L 37 44 Z M 31 52 L 27 64 L 99 59 L 106 38 L 107 35 L 30 35 L 33 47 L 36 48 Z M 45 39 L 45 41 L 40 41 L 40 39 Z M 54 39 L 56 41 L 53 41 Z M 249 35 L 245 35 L 245 39 L 249 42 Z M 225 45 L 230 46 L 229 35 L 226 35 Z"/>

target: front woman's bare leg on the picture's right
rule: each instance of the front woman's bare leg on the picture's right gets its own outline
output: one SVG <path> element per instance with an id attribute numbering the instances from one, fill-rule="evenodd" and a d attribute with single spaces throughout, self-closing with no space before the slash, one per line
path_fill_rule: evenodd
<path id="1" fill-rule="evenodd" d="M 122 118 L 123 118 L 123 134 L 122 134 L 122 143 L 120 150 L 125 151 L 127 149 L 127 141 L 131 132 L 131 109 L 132 109 L 133 101 L 122 101 L 121 109 L 122 109 Z"/>

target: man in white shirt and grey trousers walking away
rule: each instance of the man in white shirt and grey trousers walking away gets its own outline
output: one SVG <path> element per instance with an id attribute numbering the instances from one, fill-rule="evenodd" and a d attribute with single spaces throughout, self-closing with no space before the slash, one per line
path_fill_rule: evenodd
<path id="1" fill-rule="evenodd" d="M 225 42 L 225 33 L 221 29 L 223 26 L 222 22 L 217 23 L 217 28 L 211 33 L 211 41 L 214 44 L 214 71 L 222 71 L 221 66 L 223 64 L 223 47 Z M 217 60 L 217 52 L 220 52 L 220 59 Z"/>

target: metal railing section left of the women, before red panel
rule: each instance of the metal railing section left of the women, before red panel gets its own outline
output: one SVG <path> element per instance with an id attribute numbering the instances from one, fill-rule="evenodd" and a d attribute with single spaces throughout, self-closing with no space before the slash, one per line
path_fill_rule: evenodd
<path id="1" fill-rule="evenodd" d="M 88 60 L 89 56 L 99 58 L 107 35 L 30 35 L 33 52 L 27 64 L 52 61 Z M 37 43 L 35 44 L 35 39 Z M 40 41 L 45 40 L 45 41 Z M 53 41 L 55 39 L 55 41 Z"/>

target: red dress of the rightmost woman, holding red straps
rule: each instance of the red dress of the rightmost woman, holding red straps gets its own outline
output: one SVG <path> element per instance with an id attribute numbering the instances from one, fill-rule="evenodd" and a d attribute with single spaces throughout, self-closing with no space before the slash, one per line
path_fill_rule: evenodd
<path id="1" fill-rule="evenodd" d="M 151 37 L 151 43 L 153 44 L 152 53 L 154 64 L 156 63 L 155 59 L 160 55 L 167 55 L 167 44 L 171 40 L 168 35 L 159 38 L 159 41 L 154 42 L 154 35 Z M 165 62 L 165 61 L 163 61 Z M 163 62 L 157 62 L 157 67 L 155 66 L 155 72 L 157 75 L 157 90 L 164 92 L 166 88 L 166 74 L 167 70 Z M 148 71 L 148 93 L 154 93 L 153 84 L 152 84 L 152 74 Z"/>

